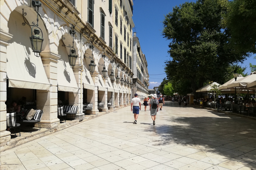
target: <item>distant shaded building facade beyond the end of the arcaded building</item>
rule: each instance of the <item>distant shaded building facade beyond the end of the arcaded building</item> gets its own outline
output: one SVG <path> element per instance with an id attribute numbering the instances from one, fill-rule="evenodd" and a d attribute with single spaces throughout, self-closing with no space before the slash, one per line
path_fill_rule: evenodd
<path id="1" fill-rule="evenodd" d="M 138 98 L 143 100 L 148 97 L 149 75 L 148 63 L 145 54 L 143 54 L 136 33 L 133 33 L 133 78 L 132 90 L 133 94 L 137 93 Z"/>

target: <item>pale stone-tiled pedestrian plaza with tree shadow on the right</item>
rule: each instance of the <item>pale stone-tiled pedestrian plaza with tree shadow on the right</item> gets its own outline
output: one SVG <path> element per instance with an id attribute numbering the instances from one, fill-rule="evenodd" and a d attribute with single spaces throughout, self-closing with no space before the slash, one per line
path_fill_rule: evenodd
<path id="1" fill-rule="evenodd" d="M 255 170 L 256 120 L 167 103 L 130 106 L 0 153 L 1 170 Z"/>

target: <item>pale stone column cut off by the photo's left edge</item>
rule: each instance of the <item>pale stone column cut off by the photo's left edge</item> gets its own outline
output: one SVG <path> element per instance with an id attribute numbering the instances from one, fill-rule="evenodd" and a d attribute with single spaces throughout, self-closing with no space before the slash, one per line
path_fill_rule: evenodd
<path id="1" fill-rule="evenodd" d="M 11 140 L 11 132 L 6 131 L 6 97 L 7 97 L 7 43 L 12 35 L 0 30 L 0 146 Z"/>

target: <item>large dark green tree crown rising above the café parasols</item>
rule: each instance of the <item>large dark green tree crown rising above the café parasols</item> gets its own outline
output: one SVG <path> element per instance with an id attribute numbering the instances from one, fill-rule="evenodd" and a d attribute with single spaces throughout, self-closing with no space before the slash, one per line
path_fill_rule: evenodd
<path id="1" fill-rule="evenodd" d="M 171 41 L 168 52 L 172 60 L 166 61 L 165 67 L 167 79 L 189 82 L 196 97 L 196 90 L 204 82 L 223 82 L 229 64 L 246 57 L 246 53 L 237 53 L 226 45 L 230 36 L 221 24 L 225 12 L 217 0 L 198 0 L 174 7 L 163 21 L 163 36 Z"/>

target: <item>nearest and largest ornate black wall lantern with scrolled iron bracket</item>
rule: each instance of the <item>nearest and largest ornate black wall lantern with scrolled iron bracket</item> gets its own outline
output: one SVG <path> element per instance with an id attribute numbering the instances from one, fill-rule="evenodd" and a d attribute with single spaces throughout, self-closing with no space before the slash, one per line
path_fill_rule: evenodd
<path id="1" fill-rule="evenodd" d="M 37 24 L 35 24 L 35 22 L 32 22 L 32 25 L 29 25 L 28 23 L 26 23 L 24 16 L 27 15 L 26 12 L 24 12 L 24 9 L 22 9 L 22 15 L 23 15 L 23 20 L 24 23 L 22 23 L 23 26 L 25 26 L 26 24 L 31 26 L 31 37 L 30 38 L 30 42 L 31 42 L 31 46 L 32 46 L 32 50 L 35 54 L 35 56 L 40 57 L 40 52 L 42 51 L 42 45 L 43 45 L 43 33 L 42 30 L 38 27 L 38 10 L 39 7 L 41 7 L 42 3 L 38 0 L 32 0 L 32 6 L 35 7 L 35 11 L 37 13 L 37 19 L 36 22 Z M 36 10 L 37 7 L 37 10 Z M 34 32 L 34 34 L 33 34 Z M 39 35 L 41 33 L 41 36 Z"/>

